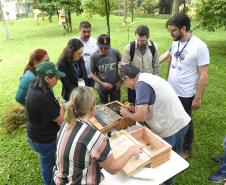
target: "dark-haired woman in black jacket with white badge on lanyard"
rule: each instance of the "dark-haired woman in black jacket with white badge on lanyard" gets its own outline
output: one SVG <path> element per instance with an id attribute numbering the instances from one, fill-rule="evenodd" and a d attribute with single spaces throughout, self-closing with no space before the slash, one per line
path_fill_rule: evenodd
<path id="1" fill-rule="evenodd" d="M 87 72 L 83 60 L 83 44 L 79 39 L 71 39 L 58 60 L 58 69 L 66 74 L 60 78 L 62 96 L 68 101 L 71 91 L 78 86 L 87 85 Z"/>

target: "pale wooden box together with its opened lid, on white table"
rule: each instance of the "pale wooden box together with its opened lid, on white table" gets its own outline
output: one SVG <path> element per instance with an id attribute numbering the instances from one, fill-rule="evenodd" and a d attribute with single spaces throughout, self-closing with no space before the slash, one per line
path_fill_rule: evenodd
<path id="1" fill-rule="evenodd" d="M 143 167 L 157 167 L 170 159 L 172 147 L 161 137 L 146 127 L 140 127 L 129 133 L 124 130 L 117 132 L 110 139 L 115 158 L 127 152 L 132 145 L 143 146 L 143 152 L 132 157 L 122 171 L 127 177 L 135 174 Z"/>

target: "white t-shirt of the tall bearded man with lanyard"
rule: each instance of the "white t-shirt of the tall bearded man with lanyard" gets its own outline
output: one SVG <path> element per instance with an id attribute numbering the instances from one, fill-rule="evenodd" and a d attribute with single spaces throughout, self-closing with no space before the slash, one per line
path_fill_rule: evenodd
<path id="1" fill-rule="evenodd" d="M 191 36 L 189 42 L 180 42 L 179 48 L 178 42 L 172 44 L 168 82 L 177 96 L 192 97 L 196 93 L 198 68 L 210 63 L 209 50 L 207 45 L 196 36 Z M 177 52 L 181 52 L 180 57 L 176 57 Z"/>

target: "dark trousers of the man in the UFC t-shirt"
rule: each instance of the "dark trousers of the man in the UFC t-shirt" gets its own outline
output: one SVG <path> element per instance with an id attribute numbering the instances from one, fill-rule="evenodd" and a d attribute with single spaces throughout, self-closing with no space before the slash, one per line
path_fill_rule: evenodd
<path id="1" fill-rule="evenodd" d="M 110 97 L 110 102 L 115 100 L 120 101 L 120 89 L 116 90 L 116 87 L 113 87 L 110 90 L 98 88 L 97 92 L 99 94 L 100 103 L 103 103 L 103 104 L 108 103 L 109 97 Z"/>

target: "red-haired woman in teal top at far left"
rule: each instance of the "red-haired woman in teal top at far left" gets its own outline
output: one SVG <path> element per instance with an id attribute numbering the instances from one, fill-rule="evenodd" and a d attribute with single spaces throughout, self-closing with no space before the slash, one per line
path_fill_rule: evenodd
<path id="1" fill-rule="evenodd" d="M 46 50 L 36 49 L 31 53 L 29 62 L 24 69 L 24 74 L 20 77 L 20 83 L 16 92 L 15 99 L 18 103 L 22 105 L 25 104 L 25 97 L 27 95 L 29 85 L 33 80 L 36 79 L 37 74 L 35 68 L 39 63 L 45 60 L 49 60 L 49 56 Z"/>

